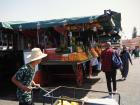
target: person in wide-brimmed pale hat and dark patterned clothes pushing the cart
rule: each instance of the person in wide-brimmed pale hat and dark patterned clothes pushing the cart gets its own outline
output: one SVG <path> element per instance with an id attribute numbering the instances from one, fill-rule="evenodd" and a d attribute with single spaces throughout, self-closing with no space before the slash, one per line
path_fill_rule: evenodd
<path id="1" fill-rule="evenodd" d="M 17 86 L 17 98 L 19 105 L 34 105 L 32 102 L 33 86 L 40 87 L 33 81 L 35 66 L 41 62 L 41 59 L 47 54 L 42 53 L 40 48 L 33 48 L 31 54 L 27 56 L 28 63 L 23 65 L 12 77 L 12 82 Z"/>

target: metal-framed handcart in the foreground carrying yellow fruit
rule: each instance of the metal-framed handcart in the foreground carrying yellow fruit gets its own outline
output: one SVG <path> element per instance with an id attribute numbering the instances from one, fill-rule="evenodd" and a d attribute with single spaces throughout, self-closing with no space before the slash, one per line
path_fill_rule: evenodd
<path id="1" fill-rule="evenodd" d="M 120 94 L 108 97 L 108 92 L 59 86 L 44 95 L 43 105 L 120 105 Z"/>

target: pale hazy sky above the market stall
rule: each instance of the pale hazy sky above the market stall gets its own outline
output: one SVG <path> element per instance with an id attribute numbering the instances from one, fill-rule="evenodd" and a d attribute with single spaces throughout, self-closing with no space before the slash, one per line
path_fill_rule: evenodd
<path id="1" fill-rule="evenodd" d="M 0 0 L 0 21 L 38 21 L 101 15 L 105 9 L 122 14 L 122 37 L 133 27 L 140 35 L 140 0 Z"/>

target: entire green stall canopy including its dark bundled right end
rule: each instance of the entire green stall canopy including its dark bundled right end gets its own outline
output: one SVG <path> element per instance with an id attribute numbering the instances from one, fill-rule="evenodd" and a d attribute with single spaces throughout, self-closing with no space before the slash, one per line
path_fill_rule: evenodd
<path id="1" fill-rule="evenodd" d="M 92 22 L 99 22 L 104 30 L 115 30 L 119 32 L 121 30 L 121 14 L 111 10 L 106 10 L 103 15 L 98 16 L 86 16 L 86 17 L 74 17 L 74 18 L 63 18 L 53 19 L 46 21 L 36 21 L 27 23 L 11 24 L 12 28 L 18 30 L 22 27 L 22 30 L 30 30 L 37 28 L 48 28 L 64 25 L 76 25 L 76 24 L 90 24 Z"/>

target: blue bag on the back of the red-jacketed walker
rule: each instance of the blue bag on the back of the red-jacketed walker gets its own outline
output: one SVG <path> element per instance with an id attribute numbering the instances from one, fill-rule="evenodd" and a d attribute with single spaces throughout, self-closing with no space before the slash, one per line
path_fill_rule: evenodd
<path id="1" fill-rule="evenodd" d="M 122 67 L 122 60 L 115 52 L 112 54 L 112 67 L 114 69 L 119 69 Z"/>

